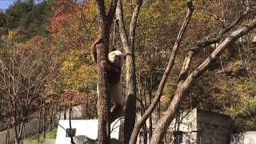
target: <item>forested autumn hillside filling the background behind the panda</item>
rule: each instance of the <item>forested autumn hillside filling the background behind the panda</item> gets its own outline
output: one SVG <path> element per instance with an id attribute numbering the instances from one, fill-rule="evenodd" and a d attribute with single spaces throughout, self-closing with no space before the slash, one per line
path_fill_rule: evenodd
<path id="1" fill-rule="evenodd" d="M 127 26 L 128 37 L 134 38 L 127 46 L 134 49 L 131 55 L 134 54 L 138 114 L 144 114 L 158 95 L 158 85 L 184 18 L 189 18 L 188 24 L 155 112 L 168 110 L 182 78 L 198 69 L 226 38 L 233 38 L 233 31 L 256 18 L 254 1 L 194 0 L 191 14 L 187 12 L 186 1 L 143 1 L 141 5 L 139 2 L 122 2 L 123 24 Z M 106 1 L 106 10 L 111 10 L 111 4 L 112 1 Z M 14 2 L 0 11 L 0 130 L 46 115 L 54 119 L 59 111 L 81 103 L 89 107 L 86 118 L 97 117 L 97 66 L 90 57 L 90 46 L 98 37 L 100 23 L 97 6 L 94 1 L 30 0 Z M 141 7 L 133 37 L 128 26 L 136 6 Z M 125 52 L 120 21 L 118 15 L 114 16 L 106 42 L 110 50 Z M 255 28 L 223 49 L 184 92 L 179 109 L 198 107 L 229 114 L 236 131 L 256 130 L 254 37 Z M 215 41 L 210 44 L 203 43 L 212 39 Z M 202 50 L 193 55 L 184 76 L 180 72 L 184 58 L 195 46 Z M 124 97 L 129 83 L 126 66 L 122 70 Z"/>

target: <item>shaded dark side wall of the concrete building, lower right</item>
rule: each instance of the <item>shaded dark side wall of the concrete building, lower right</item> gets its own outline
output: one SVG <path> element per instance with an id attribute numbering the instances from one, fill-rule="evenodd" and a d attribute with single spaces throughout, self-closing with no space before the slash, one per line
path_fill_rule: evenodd
<path id="1" fill-rule="evenodd" d="M 231 134 L 230 116 L 197 110 L 198 144 L 229 144 Z"/>

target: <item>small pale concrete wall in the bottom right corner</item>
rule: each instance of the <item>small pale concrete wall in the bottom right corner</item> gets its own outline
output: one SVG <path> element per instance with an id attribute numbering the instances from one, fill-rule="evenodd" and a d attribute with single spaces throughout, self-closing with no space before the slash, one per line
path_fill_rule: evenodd
<path id="1" fill-rule="evenodd" d="M 255 144 L 256 143 L 256 131 L 246 131 L 239 134 L 231 135 L 230 144 Z"/>

